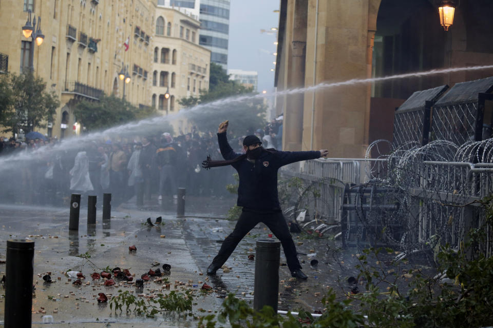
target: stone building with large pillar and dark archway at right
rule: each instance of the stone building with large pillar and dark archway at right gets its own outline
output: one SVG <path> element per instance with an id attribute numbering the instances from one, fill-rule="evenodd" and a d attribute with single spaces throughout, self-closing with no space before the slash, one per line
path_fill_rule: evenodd
<path id="1" fill-rule="evenodd" d="M 493 46 L 486 41 L 493 36 L 493 3 L 461 1 L 448 31 L 440 25 L 439 3 L 281 0 L 277 90 L 493 63 Z M 276 112 L 284 116 L 283 148 L 328 148 L 330 157 L 362 157 L 375 138 L 390 140 L 393 111 L 414 91 L 491 75 L 468 71 L 282 94 Z"/>

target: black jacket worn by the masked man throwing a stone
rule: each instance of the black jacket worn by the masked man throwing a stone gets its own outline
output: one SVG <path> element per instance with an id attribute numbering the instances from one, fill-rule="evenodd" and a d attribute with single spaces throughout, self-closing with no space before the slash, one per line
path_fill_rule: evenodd
<path id="1" fill-rule="evenodd" d="M 226 133 L 218 133 L 217 140 L 224 159 L 230 160 L 241 155 L 233 151 L 227 142 Z M 277 170 L 290 163 L 319 157 L 319 151 L 263 151 L 255 163 L 246 158 L 233 163 L 232 166 L 240 178 L 237 205 L 253 210 L 280 209 L 277 197 Z"/>

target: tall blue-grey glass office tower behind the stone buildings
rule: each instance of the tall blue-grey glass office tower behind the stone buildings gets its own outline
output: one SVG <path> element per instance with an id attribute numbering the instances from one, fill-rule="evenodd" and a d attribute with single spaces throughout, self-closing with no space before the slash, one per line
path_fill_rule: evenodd
<path id="1" fill-rule="evenodd" d="M 211 61 L 227 69 L 230 0 L 200 0 L 199 44 L 211 50 Z"/>

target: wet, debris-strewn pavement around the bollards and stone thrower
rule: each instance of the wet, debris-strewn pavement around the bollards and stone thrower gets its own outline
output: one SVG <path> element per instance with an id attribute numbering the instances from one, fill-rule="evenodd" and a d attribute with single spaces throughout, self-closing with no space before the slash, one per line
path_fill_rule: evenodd
<path id="1" fill-rule="evenodd" d="M 134 200 L 135 201 L 135 200 Z M 96 227 L 87 228 L 84 204 L 81 207 L 78 232 L 69 232 L 69 209 L 0 205 L 0 259 L 5 259 L 6 240 L 29 238 L 35 242 L 33 298 L 33 327 L 46 326 L 43 320 L 53 325 L 65 327 L 101 327 L 118 323 L 119 326 L 195 326 L 193 319 L 177 319 L 158 315 L 157 319 L 115 315 L 109 303 L 98 303 L 98 293 L 108 296 L 118 295 L 118 291 L 149 295 L 153 292 L 167 291 L 163 282 L 145 283 L 144 289 L 136 291 L 133 284 L 120 283 L 116 286 L 103 286 L 90 275 L 101 272 L 102 268 L 120 267 L 135 274 L 134 281 L 149 269 L 171 265 L 169 290 L 194 291 L 194 315 L 215 313 L 220 309 L 222 299 L 227 293 L 252 303 L 254 291 L 255 261 L 249 255 L 255 254 L 255 241 L 269 238 L 270 231 L 262 224 L 255 227 L 238 245 L 230 259 L 225 263 L 227 270 L 218 270 L 216 276 L 205 275 L 208 264 L 217 254 L 221 240 L 229 234 L 235 221 L 226 220 L 224 214 L 235 202 L 234 198 L 186 199 L 185 216 L 177 218 L 176 204 L 173 200 L 146 201 L 143 209 L 137 209 L 130 200 L 112 209 L 109 223 L 102 224 L 102 208 L 98 204 Z M 161 224 L 148 227 L 147 217 L 152 221 L 163 217 Z M 354 269 L 357 263 L 353 253 L 357 250 L 340 252 L 337 244 L 328 238 L 318 238 L 293 234 L 299 259 L 308 280 L 291 278 L 281 252 L 279 269 L 279 310 L 295 311 L 300 307 L 309 311 L 321 309 L 321 298 L 328 286 L 344 292 L 350 286 L 344 283 L 349 276 L 357 276 Z M 136 245 L 137 251 L 128 247 Z M 81 257 L 84 255 L 85 257 Z M 312 259 L 318 260 L 316 268 L 310 267 Z M 159 262 L 159 266 L 152 265 Z M 70 270 L 81 271 L 86 277 L 80 286 L 64 273 Z M 43 276 L 51 272 L 51 284 L 44 283 Z M 0 276 L 5 274 L 5 264 L 0 264 Z M 344 281 L 339 284 L 338 280 Z M 214 288 L 214 293 L 201 293 L 204 283 Z M 0 289 L 3 289 L 0 287 Z M 1 294 L 5 291 L 2 290 Z M 145 297 L 145 296 L 144 296 Z M 3 297 L 0 298 L 0 324 L 4 318 Z M 44 316 L 52 316 L 44 317 Z M 44 318 L 43 318 L 44 317 Z"/>

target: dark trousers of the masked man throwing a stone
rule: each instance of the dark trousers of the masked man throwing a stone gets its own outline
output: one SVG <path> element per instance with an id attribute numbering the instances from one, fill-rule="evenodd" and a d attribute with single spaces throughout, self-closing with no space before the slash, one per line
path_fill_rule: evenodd
<path id="1" fill-rule="evenodd" d="M 224 239 L 221 245 L 219 253 L 214 258 L 212 263 L 214 267 L 220 268 L 230 257 L 236 248 L 236 245 L 241 239 L 255 227 L 259 222 L 266 224 L 267 227 L 272 231 L 272 233 L 279 239 L 286 255 L 286 261 L 288 268 L 291 272 L 296 269 L 301 269 L 298 257 L 296 254 L 296 247 L 289 233 L 288 224 L 282 215 L 282 212 L 278 213 L 262 213 L 262 212 L 250 212 L 243 209 L 241 212 L 238 222 L 236 222 L 235 229 L 233 232 Z"/>

